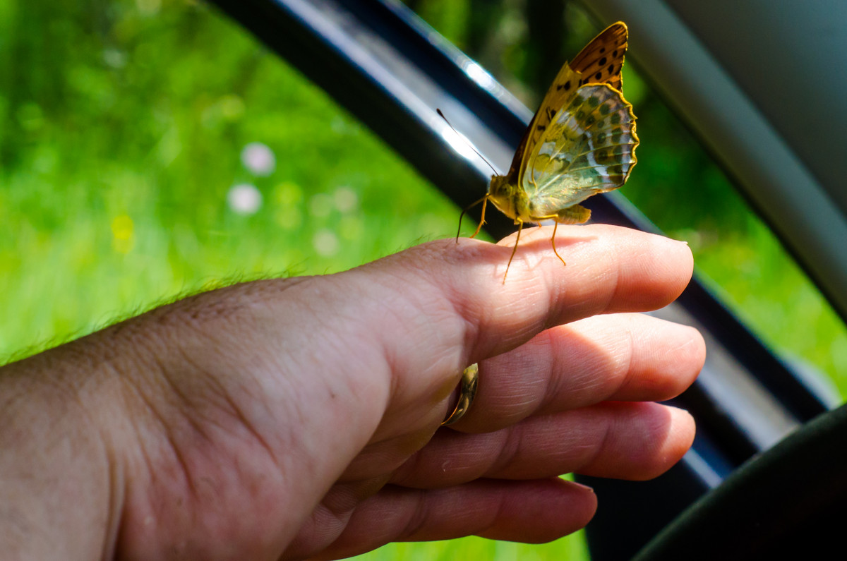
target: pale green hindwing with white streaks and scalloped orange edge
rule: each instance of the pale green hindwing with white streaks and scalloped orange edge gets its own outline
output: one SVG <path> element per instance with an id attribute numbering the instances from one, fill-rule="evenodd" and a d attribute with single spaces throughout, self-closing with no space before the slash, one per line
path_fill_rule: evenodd
<path id="1" fill-rule="evenodd" d="M 580 87 L 528 156 L 523 189 L 534 217 L 551 217 L 595 193 L 617 189 L 636 163 L 635 115 L 606 84 Z"/>

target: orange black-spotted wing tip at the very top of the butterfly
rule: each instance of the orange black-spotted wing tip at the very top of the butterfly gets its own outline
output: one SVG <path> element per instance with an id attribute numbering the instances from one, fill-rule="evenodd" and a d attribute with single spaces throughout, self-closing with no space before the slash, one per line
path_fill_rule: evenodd
<path id="1" fill-rule="evenodd" d="M 623 92 L 621 69 L 627 53 L 628 30 L 623 21 L 609 25 L 579 51 L 570 63 L 582 75 L 582 84 L 608 84 Z"/>

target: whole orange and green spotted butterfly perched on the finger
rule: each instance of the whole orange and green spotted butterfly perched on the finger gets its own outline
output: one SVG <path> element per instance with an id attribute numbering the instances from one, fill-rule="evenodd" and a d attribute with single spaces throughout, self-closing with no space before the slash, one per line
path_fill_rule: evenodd
<path id="1" fill-rule="evenodd" d="M 636 163 L 635 115 L 623 98 L 621 69 L 627 52 L 627 25 L 610 25 L 565 63 L 541 101 L 506 175 L 493 175 L 482 203 L 485 224 L 490 201 L 518 225 L 518 237 L 503 275 L 509 274 L 525 222 L 553 220 L 551 244 L 556 251 L 556 227 L 582 224 L 591 211 L 579 203 L 596 193 L 623 186 Z M 458 235 L 457 235 L 458 241 Z"/>

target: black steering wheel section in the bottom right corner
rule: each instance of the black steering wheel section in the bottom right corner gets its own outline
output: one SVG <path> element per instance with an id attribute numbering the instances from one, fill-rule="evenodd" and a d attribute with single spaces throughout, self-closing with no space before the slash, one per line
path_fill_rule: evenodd
<path id="1" fill-rule="evenodd" d="M 847 538 L 847 405 L 750 459 L 634 561 L 833 558 Z"/>

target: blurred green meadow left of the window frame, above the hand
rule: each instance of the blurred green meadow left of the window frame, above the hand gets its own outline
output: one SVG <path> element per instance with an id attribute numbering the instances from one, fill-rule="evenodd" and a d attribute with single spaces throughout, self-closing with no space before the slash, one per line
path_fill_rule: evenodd
<path id="1" fill-rule="evenodd" d="M 3 16 L 0 355 L 209 282 L 349 269 L 456 227 L 446 197 L 202 4 Z M 273 150 L 274 173 L 241 163 L 249 142 Z M 227 205 L 241 183 L 261 192 L 255 214 Z"/>

